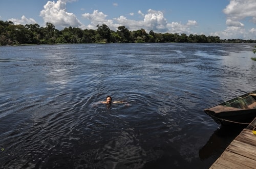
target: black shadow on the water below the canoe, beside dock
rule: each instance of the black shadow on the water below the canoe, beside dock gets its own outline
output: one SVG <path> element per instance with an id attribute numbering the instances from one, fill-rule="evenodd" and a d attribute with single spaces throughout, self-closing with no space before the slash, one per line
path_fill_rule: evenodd
<path id="1" fill-rule="evenodd" d="M 200 159 L 217 159 L 244 128 L 246 128 L 244 125 L 221 126 L 218 128 L 212 133 L 207 143 L 199 150 Z"/>

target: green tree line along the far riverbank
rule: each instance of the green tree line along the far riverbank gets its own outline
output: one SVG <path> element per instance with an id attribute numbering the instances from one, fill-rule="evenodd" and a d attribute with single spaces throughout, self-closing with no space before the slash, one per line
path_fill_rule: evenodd
<path id="1" fill-rule="evenodd" d="M 218 36 L 146 33 L 144 29 L 129 31 L 125 26 L 118 26 L 112 31 L 108 25 L 97 25 L 95 30 L 82 30 L 78 27 L 65 27 L 59 31 L 53 23 L 47 22 L 45 27 L 39 24 L 14 24 L 12 21 L 0 20 L 0 45 L 19 44 L 63 44 L 63 43 L 256 43 L 256 40 L 228 39 Z"/>

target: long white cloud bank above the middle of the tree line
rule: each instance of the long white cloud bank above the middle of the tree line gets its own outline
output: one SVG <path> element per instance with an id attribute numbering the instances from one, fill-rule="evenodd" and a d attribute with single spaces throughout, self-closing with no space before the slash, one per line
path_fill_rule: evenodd
<path id="1" fill-rule="evenodd" d="M 188 20 L 186 24 L 178 22 L 168 23 L 163 12 L 152 9 L 149 9 L 146 14 L 143 14 L 139 10 L 138 14 L 143 16 L 142 20 L 127 19 L 125 16 L 107 19 L 108 15 L 105 15 L 103 12 L 99 12 L 98 10 L 93 11 L 92 14 L 84 13 L 82 16 L 91 21 L 91 24 L 87 26 L 88 29 L 95 29 L 97 24 L 106 24 L 114 31 L 118 26 L 125 26 L 130 31 L 144 29 L 147 33 L 151 30 L 156 33 L 191 33 L 191 27 L 197 25 L 197 21 L 195 20 Z M 133 15 L 134 14 L 132 13 L 132 16 Z"/>

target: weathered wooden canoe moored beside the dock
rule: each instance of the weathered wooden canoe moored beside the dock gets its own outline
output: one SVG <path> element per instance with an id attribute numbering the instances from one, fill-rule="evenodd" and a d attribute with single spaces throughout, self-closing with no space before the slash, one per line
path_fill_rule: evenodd
<path id="1" fill-rule="evenodd" d="M 256 117 L 256 91 L 204 109 L 220 125 L 246 124 Z"/>

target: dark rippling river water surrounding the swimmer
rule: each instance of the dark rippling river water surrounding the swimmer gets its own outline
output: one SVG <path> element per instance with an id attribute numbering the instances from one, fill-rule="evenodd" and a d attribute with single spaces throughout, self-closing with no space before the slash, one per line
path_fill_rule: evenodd
<path id="1" fill-rule="evenodd" d="M 254 45 L 0 47 L 0 168 L 208 168 L 241 130 L 203 109 L 256 90 Z"/>

